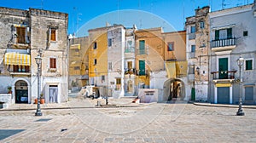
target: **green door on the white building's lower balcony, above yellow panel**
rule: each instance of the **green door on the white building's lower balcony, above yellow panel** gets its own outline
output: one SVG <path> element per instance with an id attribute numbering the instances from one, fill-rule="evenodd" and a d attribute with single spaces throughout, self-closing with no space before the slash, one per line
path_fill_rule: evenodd
<path id="1" fill-rule="evenodd" d="M 218 59 L 218 78 L 228 79 L 228 58 Z"/>

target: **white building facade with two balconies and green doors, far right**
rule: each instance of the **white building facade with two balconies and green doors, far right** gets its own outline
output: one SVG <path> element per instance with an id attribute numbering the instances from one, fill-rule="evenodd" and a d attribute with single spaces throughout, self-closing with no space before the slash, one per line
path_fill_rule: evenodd
<path id="1" fill-rule="evenodd" d="M 212 12 L 209 20 L 209 66 L 212 74 L 208 100 L 212 103 L 237 104 L 242 90 L 242 102 L 255 104 L 255 3 Z M 245 59 L 241 68 L 242 88 L 236 62 L 240 55 Z"/>

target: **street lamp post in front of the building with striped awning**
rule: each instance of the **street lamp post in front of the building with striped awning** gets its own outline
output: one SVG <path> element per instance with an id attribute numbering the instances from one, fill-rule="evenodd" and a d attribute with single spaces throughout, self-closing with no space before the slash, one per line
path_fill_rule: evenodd
<path id="1" fill-rule="evenodd" d="M 38 109 L 36 112 L 36 116 L 42 116 L 41 108 L 40 108 L 40 72 L 41 72 L 41 63 L 42 63 L 42 58 L 40 54 L 38 54 L 37 57 L 35 57 L 35 60 L 38 64 Z"/>

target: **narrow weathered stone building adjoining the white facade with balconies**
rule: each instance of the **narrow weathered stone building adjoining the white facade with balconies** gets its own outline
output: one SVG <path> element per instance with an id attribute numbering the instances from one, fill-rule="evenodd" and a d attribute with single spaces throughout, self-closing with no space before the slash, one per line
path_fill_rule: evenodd
<path id="1" fill-rule="evenodd" d="M 207 101 L 209 83 L 209 20 L 210 7 L 195 9 L 195 16 L 186 20 L 188 81 L 191 100 Z"/>

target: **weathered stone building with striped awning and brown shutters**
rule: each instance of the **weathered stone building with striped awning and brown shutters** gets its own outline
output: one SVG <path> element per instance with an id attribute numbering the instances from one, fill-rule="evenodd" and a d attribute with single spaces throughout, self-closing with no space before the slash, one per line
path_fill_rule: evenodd
<path id="1" fill-rule="evenodd" d="M 46 103 L 67 101 L 67 14 L 42 9 L 0 8 L 0 92 L 11 87 L 9 104 L 33 103 L 41 91 Z"/>

